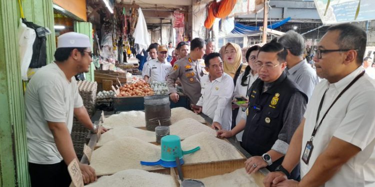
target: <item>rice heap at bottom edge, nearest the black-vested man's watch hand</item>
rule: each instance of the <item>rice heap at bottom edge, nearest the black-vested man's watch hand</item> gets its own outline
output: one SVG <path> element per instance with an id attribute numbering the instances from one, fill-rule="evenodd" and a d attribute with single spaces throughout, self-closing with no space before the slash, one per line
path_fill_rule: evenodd
<path id="1" fill-rule="evenodd" d="M 246 174 L 244 168 L 237 169 L 229 174 L 211 176 L 198 179 L 204 187 L 258 187 L 254 178 Z"/>

